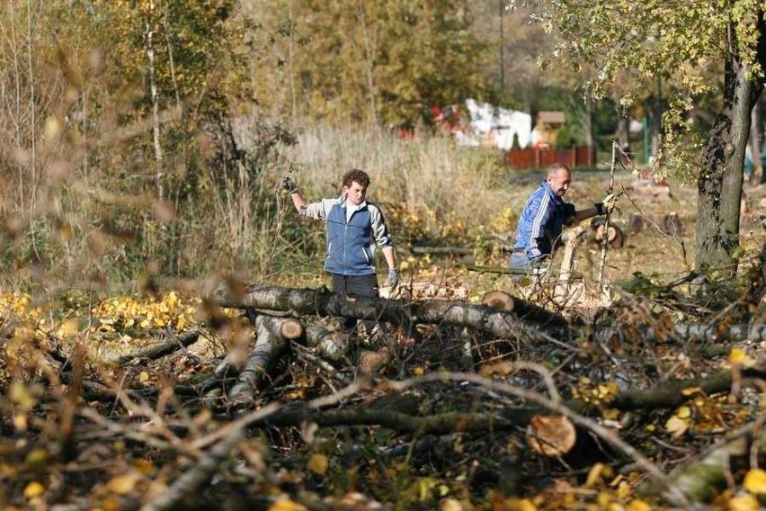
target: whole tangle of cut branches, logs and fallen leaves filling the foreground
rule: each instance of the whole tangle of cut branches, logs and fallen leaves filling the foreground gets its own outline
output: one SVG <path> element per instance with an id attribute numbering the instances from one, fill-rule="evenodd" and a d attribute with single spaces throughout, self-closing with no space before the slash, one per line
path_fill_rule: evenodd
<path id="1" fill-rule="evenodd" d="M 640 474 L 644 498 L 690 507 L 766 460 L 766 363 L 719 356 L 766 342 L 748 319 L 762 289 L 748 289 L 744 312 L 712 324 L 635 297 L 584 324 L 502 292 L 470 303 L 217 285 L 201 291 L 205 325 L 115 363 L 40 345 L 8 368 L 0 503 L 374 507 L 408 498 L 390 472 L 405 461 L 410 476 L 461 481 L 450 491 L 466 499 L 590 483 L 609 465 Z M 385 328 L 359 336 L 348 318 Z M 193 353 L 201 341 L 222 349 Z M 690 399 L 717 396 L 718 435 L 695 429 L 704 417 L 682 422 Z M 647 428 L 676 416 L 681 434 Z M 441 498 L 425 491 L 423 506 Z"/>

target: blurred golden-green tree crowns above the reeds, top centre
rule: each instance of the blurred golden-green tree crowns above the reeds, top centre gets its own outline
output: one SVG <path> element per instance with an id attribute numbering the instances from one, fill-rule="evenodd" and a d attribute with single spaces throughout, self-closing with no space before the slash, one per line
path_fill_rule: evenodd
<path id="1" fill-rule="evenodd" d="M 293 110 L 309 119 L 401 125 L 486 90 L 487 45 L 463 0 L 280 0 L 248 12 L 273 51 L 254 57 L 264 106 L 288 112 L 294 83 Z"/>

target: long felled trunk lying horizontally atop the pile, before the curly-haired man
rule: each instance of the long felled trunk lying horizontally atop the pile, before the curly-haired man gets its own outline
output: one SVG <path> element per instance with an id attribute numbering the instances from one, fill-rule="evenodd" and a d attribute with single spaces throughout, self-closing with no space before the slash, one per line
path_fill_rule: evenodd
<path id="1" fill-rule="evenodd" d="M 219 286 L 206 297 L 221 307 L 246 309 L 286 310 L 291 314 L 343 316 L 345 318 L 374 319 L 395 325 L 413 327 L 417 323 L 442 326 L 472 327 L 503 338 L 520 335 L 534 340 L 548 340 L 537 328 L 530 327 L 520 318 L 538 320 L 546 325 L 565 326 L 565 318 L 547 312 L 545 318 L 517 316 L 486 305 L 429 300 L 424 302 L 355 297 L 326 290 L 290 289 L 283 287 L 254 287 L 245 293 L 232 293 L 227 286 Z M 544 310 L 544 309 L 543 309 Z"/>

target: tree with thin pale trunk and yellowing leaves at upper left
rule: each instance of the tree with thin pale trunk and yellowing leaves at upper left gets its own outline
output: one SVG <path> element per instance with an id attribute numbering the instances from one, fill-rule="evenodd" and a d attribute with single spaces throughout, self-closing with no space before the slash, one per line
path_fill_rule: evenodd
<path id="1" fill-rule="evenodd" d="M 111 91 L 134 84 L 120 121 L 152 119 L 138 165 L 155 166 L 158 199 L 173 200 L 200 124 L 225 117 L 246 94 L 234 0 L 94 0 L 94 22 L 107 31 Z"/>

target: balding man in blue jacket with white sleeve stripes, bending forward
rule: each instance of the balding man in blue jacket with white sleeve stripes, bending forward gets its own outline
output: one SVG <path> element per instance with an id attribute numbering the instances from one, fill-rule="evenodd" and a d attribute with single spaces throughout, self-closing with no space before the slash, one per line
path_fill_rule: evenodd
<path id="1" fill-rule="evenodd" d="M 592 208 L 576 211 L 573 204 L 563 199 L 571 181 L 572 173 L 565 164 L 555 163 L 548 167 L 546 180 L 530 195 L 521 211 L 516 243 L 509 262 L 512 268 L 539 267 L 555 252 L 564 226 L 575 225 L 614 209 L 617 196 L 610 193 L 603 202 L 593 204 Z"/>

